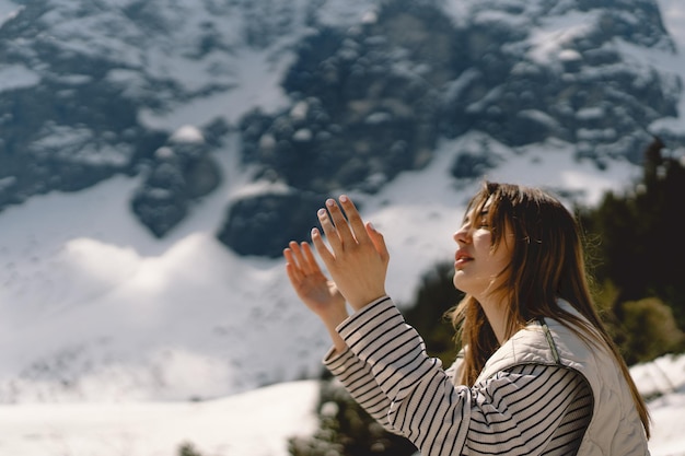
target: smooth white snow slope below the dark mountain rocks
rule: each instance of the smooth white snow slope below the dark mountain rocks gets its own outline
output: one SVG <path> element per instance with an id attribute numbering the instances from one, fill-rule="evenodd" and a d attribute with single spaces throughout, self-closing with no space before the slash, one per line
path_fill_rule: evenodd
<path id="1" fill-rule="evenodd" d="M 472 141 L 445 142 L 442 160 Z M 637 173 L 627 163 L 608 173 L 573 164 L 564 150 L 501 154 L 507 166 L 490 178 L 588 198 Z M 460 208 L 477 185 L 454 188 L 444 167 L 437 160 L 373 198 L 360 196 L 364 215 L 385 233 L 388 290 L 399 302 L 451 257 Z M 316 375 L 325 331 L 289 289 L 282 262 L 237 257 L 206 229 L 245 188 L 222 188 L 159 242 L 128 215 L 130 185 L 112 179 L 3 213 L 0 338 L 11 349 L 0 353 L 0 398 L 208 398 Z"/>

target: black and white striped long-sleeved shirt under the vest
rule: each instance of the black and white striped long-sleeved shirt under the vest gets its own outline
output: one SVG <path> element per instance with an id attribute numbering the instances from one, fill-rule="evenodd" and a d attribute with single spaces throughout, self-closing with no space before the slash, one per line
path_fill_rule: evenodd
<path id="1" fill-rule="evenodd" d="M 523 364 L 473 387 L 454 385 L 429 358 L 390 297 L 338 328 L 348 349 L 324 360 L 386 430 L 423 456 L 574 455 L 592 416 L 584 377 L 561 365 Z M 458 362 L 458 361 L 457 361 Z"/>

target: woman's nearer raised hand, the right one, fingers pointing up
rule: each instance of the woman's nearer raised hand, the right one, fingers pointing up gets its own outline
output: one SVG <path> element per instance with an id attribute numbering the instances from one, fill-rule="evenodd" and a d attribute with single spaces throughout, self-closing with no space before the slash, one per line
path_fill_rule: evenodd
<path id="1" fill-rule="evenodd" d="M 383 235 L 362 222 L 352 201 L 345 195 L 339 201 L 340 207 L 328 199 L 327 211 L 320 209 L 317 213 L 330 249 L 316 229 L 312 230 L 312 242 L 340 293 L 360 309 L 385 295 L 390 255 Z"/>

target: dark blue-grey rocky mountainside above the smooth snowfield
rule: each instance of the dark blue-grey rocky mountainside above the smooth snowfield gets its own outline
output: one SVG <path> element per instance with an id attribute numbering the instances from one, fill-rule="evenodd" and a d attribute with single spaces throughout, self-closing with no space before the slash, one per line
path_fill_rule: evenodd
<path id="1" fill-rule="evenodd" d="M 555 139 L 603 166 L 641 160 L 650 126 L 677 115 L 680 79 L 641 58 L 674 52 L 654 0 L 353 3 L 18 5 L 0 27 L 0 210 L 127 174 L 140 180 L 133 213 L 164 236 L 222 182 L 214 155 L 233 129 L 255 178 L 289 192 L 234 201 L 217 236 L 274 257 L 306 238 L 326 196 L 375 192 L 425 166 L 440 139 L 477 131 L 514 149 Z M 141 120 L 240 91 L 242 57 L 285 49 L 285 107 L 208 115 L 190 141 Z M 457 179 L 497 165 L 487 144 L 460 152 Z M 260 223 L 274 220 L 287 225 L 265 243 Z"/>

